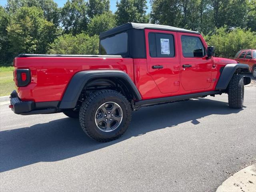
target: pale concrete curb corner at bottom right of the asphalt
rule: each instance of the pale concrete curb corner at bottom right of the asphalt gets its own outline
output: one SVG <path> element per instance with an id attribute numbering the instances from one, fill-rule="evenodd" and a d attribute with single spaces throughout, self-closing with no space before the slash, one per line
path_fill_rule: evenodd
<path id="1" fill-rule="evenodd" d="M 216 192 L 256 192 L 256 164 L 230 176 Z"/>

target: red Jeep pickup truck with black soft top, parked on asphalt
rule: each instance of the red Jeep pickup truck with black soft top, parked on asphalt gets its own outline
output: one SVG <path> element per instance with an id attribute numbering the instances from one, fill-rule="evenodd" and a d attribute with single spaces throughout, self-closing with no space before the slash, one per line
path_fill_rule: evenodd
<path id="1" fill-rule="evenodd" d="M 227 93 L 242 108 L 247 64 L 216 58 L 195 31 L 127 23 L 100 34 L 100 55 L 14 58 L 16 114 L 63 112 L 100 142 L 120 137 L 141 106 Z"/>

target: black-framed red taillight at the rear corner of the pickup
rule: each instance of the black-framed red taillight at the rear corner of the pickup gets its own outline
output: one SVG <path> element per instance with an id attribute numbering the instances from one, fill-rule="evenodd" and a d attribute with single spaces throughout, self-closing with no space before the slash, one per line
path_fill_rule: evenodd
<path id="1" fill-rule="evenodd" d="M 31 73 L 29 69 L 16 69 L 14 72 L 15 83 L 18 87 L 27 86 L 31 81 Z"/>

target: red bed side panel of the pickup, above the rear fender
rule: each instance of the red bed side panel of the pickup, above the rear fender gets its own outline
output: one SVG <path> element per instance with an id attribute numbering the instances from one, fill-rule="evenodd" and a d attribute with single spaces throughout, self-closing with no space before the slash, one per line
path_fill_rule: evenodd
<path id="1" fill-rule="evenodd" d="M 122 70 L 134 80 L 132 58 L 24 57 L 15 58 L 14 67 L 31 71 L 31 83 L 17 87 L 24 101 L 60 101 L 72 76 L 84 70 Z"/>

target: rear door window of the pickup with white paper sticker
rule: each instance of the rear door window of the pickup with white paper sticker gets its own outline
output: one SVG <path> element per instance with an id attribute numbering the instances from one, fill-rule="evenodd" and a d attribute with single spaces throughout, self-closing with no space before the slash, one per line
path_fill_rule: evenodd
<path id="1" fill-rule="evenodd" d="M 172 34 L 149 33 L 149 54 L 151 57 L 174 57 L 174 38 Z"/>

